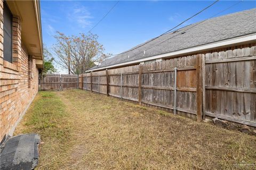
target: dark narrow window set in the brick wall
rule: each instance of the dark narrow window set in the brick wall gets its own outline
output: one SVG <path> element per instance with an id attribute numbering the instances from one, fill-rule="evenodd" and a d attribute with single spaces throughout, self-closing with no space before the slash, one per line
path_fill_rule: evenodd
<path id="1" fill-rule="evenodd" d="M 4 2 L 4 60 L 12 62 L 12 13 Z"/>

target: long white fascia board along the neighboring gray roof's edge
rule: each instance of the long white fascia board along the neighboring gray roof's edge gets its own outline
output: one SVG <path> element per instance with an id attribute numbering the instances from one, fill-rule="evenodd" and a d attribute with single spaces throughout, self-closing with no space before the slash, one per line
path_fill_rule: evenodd
<path id="1" fill-rule="evenodd" d="M 139 64 L 140 62 L 145 62 L 145 61 L 149 61 L 149 60 L 156 60 L 158 58 L 177 56 L 177 55 L 188 54 L 188 53 L 192 53 L 192 52 L 194 53 L 194 52 L 198 52 L 198 51 L 201 51 L 201 50 L 206 50 L 206 49 L 211 49 L 211 48 L 216 48 L 216 47 L 221 47 L 221 46 L 227 46 L 227 45 L 231 45 L 231 44 L 245 43 L 247 41 L 253 41 L 253 40 L 256 40 L 256 33 L 252 33 L 252 34 L 246 35 L 246 36 L 231 38 L 231 39 L 227 39 L 227 40 L 217 41 L 217 42 L 214 42 L 214 43 L 201 45 L 201 46 L 197 46 L 197 47 L 181 49 L 181 50 L 178 50 L 178 51 L 175 51 L 175 52 L 154 55 L 154 56 L 150 56 L 150 57 L 146 57 L 146 58 L 141 58 L 141 59 L 138 59 L 138 60 L 133 60 L 133 61 L 124 62 L 124 63 L 118 63 L 118 64 L 114 64 L 114 65 L 109 65 L 109 66 L 106 66 L 106 67 L 100 67 L 99 69 L 88 70 L 86 72 L 97 71 L 97 70 L 105 70 L 105 69 L 109 69 L 109 68 L 112 68 L 112 67 L 119 67 L 119 66 L 137 64 L 137 63 Z"/>

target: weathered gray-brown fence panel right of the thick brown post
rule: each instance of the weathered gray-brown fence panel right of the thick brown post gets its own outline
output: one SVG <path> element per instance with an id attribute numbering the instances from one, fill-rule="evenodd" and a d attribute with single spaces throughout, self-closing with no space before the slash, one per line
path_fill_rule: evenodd
<path id="1" fill-rule="evenodd" d="M 256 48 L 205 55 L 205 114 L 256 126 Z"/>

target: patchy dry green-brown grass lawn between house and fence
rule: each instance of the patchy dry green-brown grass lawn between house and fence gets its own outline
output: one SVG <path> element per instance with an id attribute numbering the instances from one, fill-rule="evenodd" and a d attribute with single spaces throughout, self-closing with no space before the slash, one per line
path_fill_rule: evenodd
<path id="1" fill-rule="evenodd" d="M 256 165 L 255 136 L 82 90 L 39 92 L 15 134 L 32 132 L 43 142 L 37 169 Z"/>

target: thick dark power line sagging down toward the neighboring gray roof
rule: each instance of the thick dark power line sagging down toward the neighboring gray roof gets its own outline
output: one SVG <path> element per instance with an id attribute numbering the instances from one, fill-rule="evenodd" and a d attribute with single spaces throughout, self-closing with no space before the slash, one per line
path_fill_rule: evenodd
<path id="1" fill-rule="evenodd" d="M 172 30 L 173 30 L 173 29 L 175 29 L 175 28 L 179 27 L 181 24 L 185 23 L 186 21 L 190 20 L 191 18 L 194 18 L 194 16 L 196 16 L 196 15 L 198 15 L 198 14 L 202 13 L 203 11 L 205 11 L 207 8 L 211 7 L 212 5 L 214 5 L 215 3 L 217 3 L 218 1 L 219 1 L 219 0 L 214 1 L 211 5 L 206 6 L 205 8 L 203 8 L 203 10 L 201 10 L 201 11 L 197 12 L 196 14 L 194 14 L 194 15 L 193 15 L 193 16 L 191 16 L 190 18 L 186 19 L 185 21 L 182 21 L 181 23 L 179 23 L 178 25 L 176 25 L 176 26 L 175 26 L 175 27 L 173 27 L 172 29 L 170 29 L 170 30 L 168 30 L 168 31 L 166 31 L 166 32 L 164 32 L 164 33 L 162 33 L 160 36 L 157 36 L 157 37 L 155 37 L 155 38 L 153 38 L 153 39 L 151 39 L 151 40 L 147 41 L 146 43 L 139 45 L 138 47 L 135 47 L 135 48 L 132 48 L 132 49 L 130 49 L 130 50 L 127 50 L 126 52 L 119 53 L 119 54 L 113 54 L 113 55 L 110 55 L 110 56 L 120 55 L 120 54 L 124 54 L 124 53 L 127 53 L 127 52 L 131 52 L 131 51 L 132 51 L 132 50 L 134 50 L 134 49 L 137 49 L 137 48 L 139 48 L 139 47 L 142 47 L 142 46 L 144 46 L 144 45 L 146 45 L 146 44 L 150 43 L 151 41 L 153 41 L 153 40 L 155 40 L 155 39 L 157 39 L 157 38 L 159 38 L 159 37 L 161 37 L 161 36 L 165 35 L 166 33 L 168 33 L 168 32 L 170 32 L 170 31 L 172 31 Z"/>

